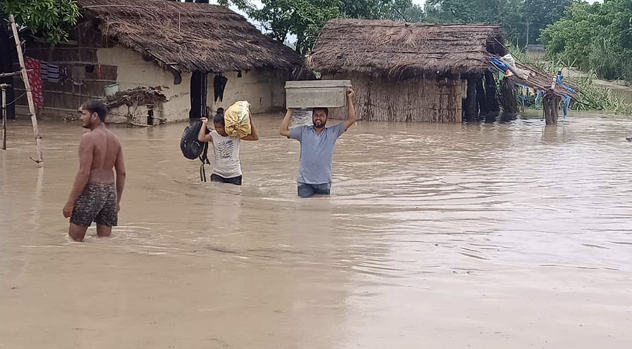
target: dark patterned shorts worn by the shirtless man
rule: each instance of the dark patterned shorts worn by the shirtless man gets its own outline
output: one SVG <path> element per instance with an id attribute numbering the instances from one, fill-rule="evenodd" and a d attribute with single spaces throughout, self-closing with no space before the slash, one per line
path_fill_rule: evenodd
<path id="1" fill-rule="evenodd" d="M 116 226 L 116 187 L 114 183 L 88 183 L 75 201 L 70 223 L 89 227 L 92 222 Z"/>

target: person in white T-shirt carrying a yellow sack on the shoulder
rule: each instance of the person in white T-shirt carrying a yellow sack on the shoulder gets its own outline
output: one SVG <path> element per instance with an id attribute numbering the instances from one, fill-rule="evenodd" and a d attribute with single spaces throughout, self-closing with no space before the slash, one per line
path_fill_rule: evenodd
<path id="1" fill-rule="evenodd" d="M 245 122 L 244 122 L 244 117 Z M 200 142 L 212 142 L 215 161 L 211 182 L 241 185 L 242 173 L 239 161 L 239 144 L 241 140 L 256 141 L 259 139 L 252 117 L 248 110 L 248 102 L 233 104 L 226 113 L 219 108 L 213 118 L 215 129 L 206 134 L 208 119 L 200 118 L 202 128 L 198 134 Z"/>

